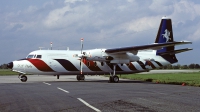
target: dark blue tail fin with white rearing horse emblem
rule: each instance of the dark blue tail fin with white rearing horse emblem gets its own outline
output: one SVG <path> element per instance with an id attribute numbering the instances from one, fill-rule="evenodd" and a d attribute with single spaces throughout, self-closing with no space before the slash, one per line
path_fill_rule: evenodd
<path id="1" fill-rule="evenodd" d="M 155 40 L 155 43 L 167 43 L 174 42 L 173 38 L 173 30 L 172 30 L 172 22 L 170 18 L 163 17 L 160 23 L 160 27 L 158 29 L 158 34 Z M 174 51 L 174 46 L 164 47 L 163 49 L 157 50 L 156 55 L 160 55 L 166 52 Z M 160 55 L 170 63 L 178 62 L 175 54 L 166 54 Z"/>

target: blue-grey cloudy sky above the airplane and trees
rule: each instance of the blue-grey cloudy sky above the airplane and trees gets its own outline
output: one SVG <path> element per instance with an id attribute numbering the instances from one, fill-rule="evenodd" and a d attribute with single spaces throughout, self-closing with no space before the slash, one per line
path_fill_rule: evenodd
<path id="1" fill-rule="evenodd" d="M 193 44 L 177 55 L 179 64 L 200 64 L 199 0 L 2 0 L 0 64 L 39 47 L 116 48 L 154 43 L 163 16 L 173 23 L 174 40 Z M 198 58 L 197 58 L 198 57 Z"/>

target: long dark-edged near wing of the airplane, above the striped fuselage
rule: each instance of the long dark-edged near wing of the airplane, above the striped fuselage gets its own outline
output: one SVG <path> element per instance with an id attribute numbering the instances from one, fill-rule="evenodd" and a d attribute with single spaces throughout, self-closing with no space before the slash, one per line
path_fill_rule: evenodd
<path id="1" fill-rule="evenodd" d="M 154 43 L 150 45 L 106 49 L 105 52 L 106 53 L 125 53 L 125 52 L 135 52 L 138 50 L 159 50 L 159 49 L 162 49 L 163 47 L 182 45 L 182 44 L 191 44 L 191 43 L 192 42 L 189 42 L 189 41 Z"/>

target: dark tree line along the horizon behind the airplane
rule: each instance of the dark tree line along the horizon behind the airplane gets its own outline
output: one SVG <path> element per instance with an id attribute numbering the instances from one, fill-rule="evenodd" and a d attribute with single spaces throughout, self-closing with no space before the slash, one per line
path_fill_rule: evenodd
<path id="1" fill-rule="evenodd" d="M 0 69 L 8 69 L 7 64 L 2 64 L 0 66 Z M 162 66 L 159 69 L 200 69 L 200 65 L 199 64 L 189 64 L 189 65 L 167 65 L 167 66 Z"/>

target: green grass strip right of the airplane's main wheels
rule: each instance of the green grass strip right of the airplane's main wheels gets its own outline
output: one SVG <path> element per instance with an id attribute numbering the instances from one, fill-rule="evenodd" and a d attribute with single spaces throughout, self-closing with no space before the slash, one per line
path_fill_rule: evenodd
<path id="1" fill-rule="evenodd" d="M 131 74 L 120 78 L 149 81 L 163 84 L 177 84 L 200 87 L 200 72 L 194 73 L 164 73 L 164 74 Z"/>

